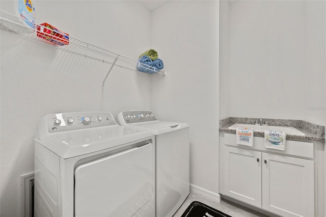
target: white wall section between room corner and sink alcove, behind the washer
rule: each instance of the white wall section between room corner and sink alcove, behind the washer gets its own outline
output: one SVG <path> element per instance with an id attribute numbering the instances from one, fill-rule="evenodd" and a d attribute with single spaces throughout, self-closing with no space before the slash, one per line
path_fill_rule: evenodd
<path id="1" fill-rule="evenodd" d="M 191 177 L 218 193 L 219 2 L 172 1 L 152 13 L 152 44 L 166 77 L 152 77 L 152 110 L 191 131 Z"/>

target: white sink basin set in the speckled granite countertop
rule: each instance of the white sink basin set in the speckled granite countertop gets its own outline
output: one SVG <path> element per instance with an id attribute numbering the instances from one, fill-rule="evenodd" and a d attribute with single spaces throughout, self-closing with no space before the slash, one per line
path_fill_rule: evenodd
<path id="1" fill-rule="evenodd" d="M 287 127 L 287 126 L 261 126 L 255 124 L 233 124 L 229 127 L 229 129 L 236 129 L 237 127 L 240 128 L 248 128 L 254 129 L 257 132 L 264 132 L 266 130 L 277 130 L 277 131 L 284 131 L 286 134 L 290 135 L 305 135 L 305 133 L 301 132 L 300 130 L 295 129 L 294 127 Z"/>

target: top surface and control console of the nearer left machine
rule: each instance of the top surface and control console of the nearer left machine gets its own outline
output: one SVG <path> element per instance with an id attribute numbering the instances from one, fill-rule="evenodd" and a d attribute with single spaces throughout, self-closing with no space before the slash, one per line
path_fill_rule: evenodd
<path id="1" fill-rule="evenodd" d="M 66 159 L 153 135 L 149 130 L 119 126 L 111 113 L 62 113 L 41 118 L 35 141 Z"/>

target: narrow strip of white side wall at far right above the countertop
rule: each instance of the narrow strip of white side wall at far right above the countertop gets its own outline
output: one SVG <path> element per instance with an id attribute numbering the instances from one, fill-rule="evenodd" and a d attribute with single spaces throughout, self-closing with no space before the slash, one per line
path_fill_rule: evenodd
<path id="1" fill-rule="evenodd" d="M 306 120 L 326 125 L 326 2 L 305 1 Z"/>

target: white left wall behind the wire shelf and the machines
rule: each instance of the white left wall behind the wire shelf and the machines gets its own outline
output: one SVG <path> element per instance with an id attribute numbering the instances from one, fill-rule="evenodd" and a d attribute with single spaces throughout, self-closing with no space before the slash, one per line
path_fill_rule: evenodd
<path id="1" fill-rule="evenodd" d="M 12 3 L 12 2 L 11 2 Z M 2 1 L 4 9 L 9 2 Z M 150 12 L 134 1 L 35 1 L 37 22 L 137 60 L 150 45 Z M 60 12 L 60 13 L 59 13 Z M 20 175 L 34 171 L 41 116 L 150 110 L 151 75 L 115 68 L 1 32 L 1 213 L 21 213 Z"/>

